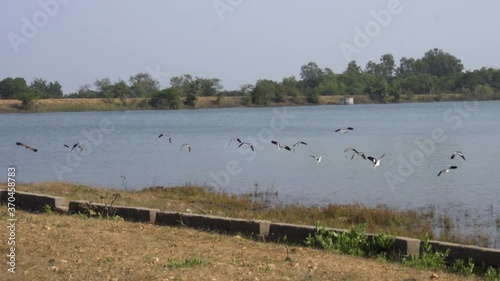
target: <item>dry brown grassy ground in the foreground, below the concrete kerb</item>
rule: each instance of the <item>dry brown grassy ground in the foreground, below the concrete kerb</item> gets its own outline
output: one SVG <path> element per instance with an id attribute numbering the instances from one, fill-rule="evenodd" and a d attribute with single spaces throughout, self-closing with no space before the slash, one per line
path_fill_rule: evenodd
<path id="1" fill-rule="evenodd" d="M 188 228 L 22 211 L 17 218 L 16 273 L 4 263 L 2 280 L 432 280 L 429 270 L 298 246 L 286 261 L 284 245 Z"/>

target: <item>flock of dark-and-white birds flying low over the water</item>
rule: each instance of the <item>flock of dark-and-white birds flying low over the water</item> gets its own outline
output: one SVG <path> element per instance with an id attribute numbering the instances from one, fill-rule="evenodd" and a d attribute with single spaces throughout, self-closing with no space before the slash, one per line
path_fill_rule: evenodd
<path id="1" fill-rule="evenodd" d="M 339 129 L 336 129 L 336 130 L 335 130 L 335 132 L 336 132 L 336 133 L 337 133 L 337 132 L 340 132 L 340 133 L 347 133 L 347 132 L 352 131 L 352 130 L 354 130 L 354 128 L 352 128 L 352 127 L 347 127 L 347 128 L 339 128 Z M 168 135 L 168 134 L 165 134 L 165 133 L 160 134 L 160 135 L 158 136 L 158 138 L 165 138 L 165 139 L 167 139 L 167 140 L 169 141 L 169 143 L 172 143 L 172 137 L 170 137 L 170 135 Z M 244 142 L 244 141 L 242 141 L 242 140 L 241 140 L 240 138 L 238 138 L 238 137 L 235 137 L 235 138 L 230 139 L 230 140 L 229 140 L 229 146 L 231 146 L 231 143 L 232 143 L 232 142 L 236 142 L 236 143 L 238 144 L 238 147 L 247 146 L 247 147 L 249 147 L 252 151 L 255 151 L 254 146 L 253 146 L 253 144 L 252 144 L 252 143 L 249 143 L 249 142 Z M 295 152 L 295 147 L 296 147 L 296 146 L 299 146 L 299 145 L 307 145 L 307 143 L 306 143 L 306 142 L 304 142 L 304 141 L 298 141 L 298 142 L 294 143 L 294 144 L 292 145 L 292 147 L 290 148 L 290 146 L 288 146 L 288 145 L 286 145 L 286 144 L 281 144 L 280 142 L 275 141 L 275 140 L 271 141 L 271 143 L 272 143 L 272 144 L 274 144 L 274 145 L 276 145 L 276 146 L 278 147 L 278 149 L 279 149 L 279 150 L 281 150 L 281 149 L 283 148 L 283 149 L 288 150 L 288 151 L 293 150 L 293 152 Z M 26 148 L 26 149 L 28 149 L 28 150 L 33 151 L 33 152 L 37 152 L 37 151 L 38 151 L 38 149 L 33 148 L 33 147 L 31 147 L 31 146 L 29 146 L 29 145 L 27 145 L 27 144 L 21 143 L 21 142 L 16 142 L 16 145 L 22 146 L 22 147 L 24 147 L 24 148 Z M 83 149 L 84 149 L 84 148 L 83 148 L 83 146 L 82 146 L 80 143 L 75 143 L 75 144 L 73 144 L 72 146 L 69 146 L 69 145 L 67 145 L 67 144 L 64 144 L 64 147 L 66 147 L 66 148 L 67 148 L 70 152 L 73 152 L 75 149 L 79 149 L 79 151 L 78 151 L 78 152 L 82 152 L 82 151 L 83 151 Z M 181 148 L 179 149 L 179 151 L 180 151 L 180 150 L 182 150 L 184 147 L 186 147 L 186 148 L 188 149 L 188 152 L 191 152 L 191 145 L 190 145 L 189 143 L 184 143 L 184 144 L 182 144 L 182 145 L 181 145 Z M 361 151 L 356 150 L 354 147 L 348 147 L 348 148 L 346 148 L 346 149 L 344 150 L 344 153 L 346 154 L 346 153 L 347 153 L 347 152 L 349 152 L 349 151 L 354 152 L 354 153 L 352 154 L 352 156 L 351 156 L 351 160 L 352 160 L 352 159 L 354 159 L 354 157 L 355 157 L 356 155 L 358 155 L 358 156 L 360 156 L 361 158 L 363 158 L 364 160 L 369 160 L 369 161 L 373 164 L 373 165 L 372 165 L 372 167 L 373 167 L 373 168 L 376 168 L 376 167 L 380 166 L 380 160 L 381 160 L 381 159 L 385 156 L 385 153 L 384 153 L 384 154 L 382 154 L 379 158 L 375 158 L 375 157 L 372 157 L 372 156 L 366 156 L 366 154 L 365 154 L 365 153 L 363 153 L 363 152 L 361 152 Z M 457 156 L 457 155 L 458 155 L 458 156 L 460 156 L 460 157 L 461 157 L 461 158 L 465 161 L 465 156 L 464 156 L 464 154 L 463 154 L 461 151 L 455 151 L 455 152 L 453 152 L 453 154 L 451 155 L 451 159 L 455 158 L 455 156 Z M 310 156 L 311 158 L 313 158 L 314 160 L 316 160 L 316 162 L 318 162 L 318 163 L 319 163 L 319 162 L 321 162 L 321 159 L 322 159 L 322 157 L 323 157 L 323 154 L 322 154 L 322 155 L 320 155 L 320 156 L 316 156 L 316 155 L 309 155 L 309 156 Z M 346 158 L 347 158 L 347 154 L 346 154 Z M 438 175 L 437 175 L 437 176 L 439 177 L 441 174 L 445 174 L 445 175 L 446 175 L 446 174 L 448 174 L 448 173 L 450 172 L 450 170 L 454 170 L 454 169 L 457 169 L 457 168 L 458 168 L 458 166 L 454 166 L 454 165 L 453 165 L 453 166 L 449 166 L 448 168 L 446 168 L 446 169 L 442 169 L 441 171 L 439 171 L 439 173 L 438 173 Z"/>

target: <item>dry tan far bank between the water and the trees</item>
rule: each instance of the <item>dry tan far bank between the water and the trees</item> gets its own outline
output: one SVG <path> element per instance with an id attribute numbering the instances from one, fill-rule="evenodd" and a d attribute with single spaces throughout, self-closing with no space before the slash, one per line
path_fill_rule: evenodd
<path id="1" fill-rule="evenodd" d="M 318 105 L 339 104 L 344 96 L 320 96 Z M 354 104 L 374 103 L 366 95 L 353 96 Z M 463 100 L 462 94 L 443 95 L 415 95 L 410 102 L 433 102 Z M 308 105 L 304 97 L 285 103 L 270 103 L 268 106 Z M 245 97 L 198 97 L 196 108 L 224 108 L 251 106 Z M 120 99 L 41 99 L 35 100 L 30 109 L 23 110 L 19 100 L 0 100 L 0 113 L 23 112 L 71 112 L 71 111 L 113 111 L 113 110 L 146 110 L 153 109 L 146 98 L 128 98 L 125 102 Z"/>

